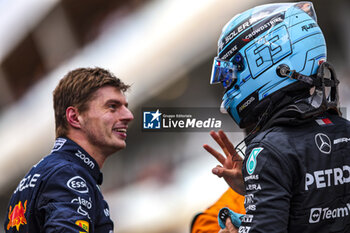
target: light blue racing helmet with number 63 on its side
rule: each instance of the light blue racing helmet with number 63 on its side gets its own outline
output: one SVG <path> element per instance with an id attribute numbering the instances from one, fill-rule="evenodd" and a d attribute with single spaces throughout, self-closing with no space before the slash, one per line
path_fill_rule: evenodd
<path id="1" fill-rule="evenodd" d="M 210 83 L 223 84 L 222 108 L 244 128 L 261 101 L 300 82 L 286 68 L 312 76 L 325 60 L 326 42 L 311 2 L 262 5 L 224 26 Z"/>

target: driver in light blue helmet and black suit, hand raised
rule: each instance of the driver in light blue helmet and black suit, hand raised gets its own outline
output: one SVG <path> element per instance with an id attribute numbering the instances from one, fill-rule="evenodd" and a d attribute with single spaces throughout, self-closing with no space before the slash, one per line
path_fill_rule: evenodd
<path id="1" fill-rule="evenodd" d="M 210 82 L 222 83 L 222 111 L 250 132 L 245 153 L 236 148 L 243 163 L 223 132 L 216 137 L 231 153 L 216 154 L 223 166 L 213 173 L 245 195 L 238 232 L 350 232 L 350 123 L 312 3 L 233 17 Z"/>

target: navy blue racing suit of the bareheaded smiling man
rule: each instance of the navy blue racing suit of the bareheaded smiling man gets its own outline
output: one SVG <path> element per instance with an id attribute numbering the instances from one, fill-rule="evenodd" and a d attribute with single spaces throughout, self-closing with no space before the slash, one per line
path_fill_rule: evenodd
<path id="1" fill-rule="evenodd" d="M 101 183 L 96 161 L 72 140 L 57 138 L 51 154 L 34 165 L 14 191 L 5 231 L 111 233 Z"/>

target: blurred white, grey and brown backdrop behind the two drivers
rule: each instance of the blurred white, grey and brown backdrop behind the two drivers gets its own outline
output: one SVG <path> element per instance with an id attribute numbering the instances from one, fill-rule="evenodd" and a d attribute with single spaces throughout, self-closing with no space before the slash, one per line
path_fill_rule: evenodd
<path id="1" fill-rule="evenodd" d="M 0 0 L 1 225 L 18 182 L 53 145 L 59 79 L 77 67 L 100 66 L 132 84 L 127 96 L 135 115 L 127 149 L 102 170 L 115 231 L 188 232 L 193 216 L 227 188 L 211 174 L 218 163 L 202 145 L 217 147 L 208 133 L 142 132 L 141 108 L 218 107 L 223 90 L 209 86 L 209 76 L 222 27 L 241 11 L 273 2 Z M 347 108 L 350 4 L 313 3 Z M 234 143 L 243 138 L 229 136 Z"/>

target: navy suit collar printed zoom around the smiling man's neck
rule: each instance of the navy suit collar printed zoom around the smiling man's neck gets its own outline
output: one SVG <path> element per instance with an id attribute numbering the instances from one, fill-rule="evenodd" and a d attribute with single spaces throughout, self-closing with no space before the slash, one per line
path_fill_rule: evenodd
<path id="1" fill-rule="evenodd" d="M 85 168 L 98 185 L 103 182 L 103 174 L 94 158 L 92 158 L 81 146 L 67 137 L 59 137 L 56 139 L 51 153 L 64 154 L 65 158 L 81 167 Z"/>

